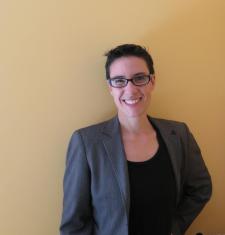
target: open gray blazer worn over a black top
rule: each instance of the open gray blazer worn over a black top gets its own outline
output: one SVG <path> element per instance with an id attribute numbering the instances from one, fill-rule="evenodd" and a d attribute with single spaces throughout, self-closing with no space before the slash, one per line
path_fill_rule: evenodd
<path id="1" fill-rule="evenodd" d="M 211 178 L 184 123 L 150 118 L 176 180 L 172 233 L 184 234 L 209 200 Z M 118 117 L 74 132 L 64 175 L 61 235 L 128 235 L 129 177 Z"/>

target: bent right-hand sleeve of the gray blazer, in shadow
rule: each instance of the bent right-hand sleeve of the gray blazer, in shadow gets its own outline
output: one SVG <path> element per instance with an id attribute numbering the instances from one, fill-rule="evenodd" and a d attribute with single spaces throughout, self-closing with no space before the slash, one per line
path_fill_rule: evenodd
<path id="1" fill-rule="evenodd" d="M 181 172 L 181 200 L 175 212 L 173 235 L 182 235 L 210 199 L 212 182 L 201 151 L 185 125 L 183 136 L 184 167 Z"/>

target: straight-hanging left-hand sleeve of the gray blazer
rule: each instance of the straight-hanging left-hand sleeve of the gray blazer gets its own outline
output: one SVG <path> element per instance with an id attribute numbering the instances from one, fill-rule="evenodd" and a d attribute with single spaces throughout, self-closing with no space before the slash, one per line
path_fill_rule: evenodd
<path id="1" fill-rule="evenodd" d="M 91 235 L 90 169 L 79 131 L 74 132 L 68 146 L 63 191 L 60 235 Z"/>

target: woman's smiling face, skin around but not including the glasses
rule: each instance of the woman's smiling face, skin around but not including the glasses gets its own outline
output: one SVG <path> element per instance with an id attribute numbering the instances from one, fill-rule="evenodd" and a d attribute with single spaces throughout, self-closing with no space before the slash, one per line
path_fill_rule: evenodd
<path id="1" fill-rule="evenodd" d="M 109 68 L 110 78 L 123 76 L 127 79 L 135 75 L 149 75 L 149 70 L 144 59 L 136 56 L 127 56 L 116 59 Z M 151 93 L 155 86 L 155 77 L 147 85 L 135 86 L 128 82 L 126 87 L 114 88 L 109 85 L 118 115 L 121 118 L 133 118 L 147 115 Z"/>

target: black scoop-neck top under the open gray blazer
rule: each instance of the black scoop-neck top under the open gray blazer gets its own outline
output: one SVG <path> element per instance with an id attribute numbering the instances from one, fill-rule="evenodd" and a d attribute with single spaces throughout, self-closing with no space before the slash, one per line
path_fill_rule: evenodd
<path id="1" fill-rule="evenodd" d="M 128 161 L 129 235 L 170 235 L 176 185 L 170 157 L 159 132 L 157 153 L 147 161 Z"/>

